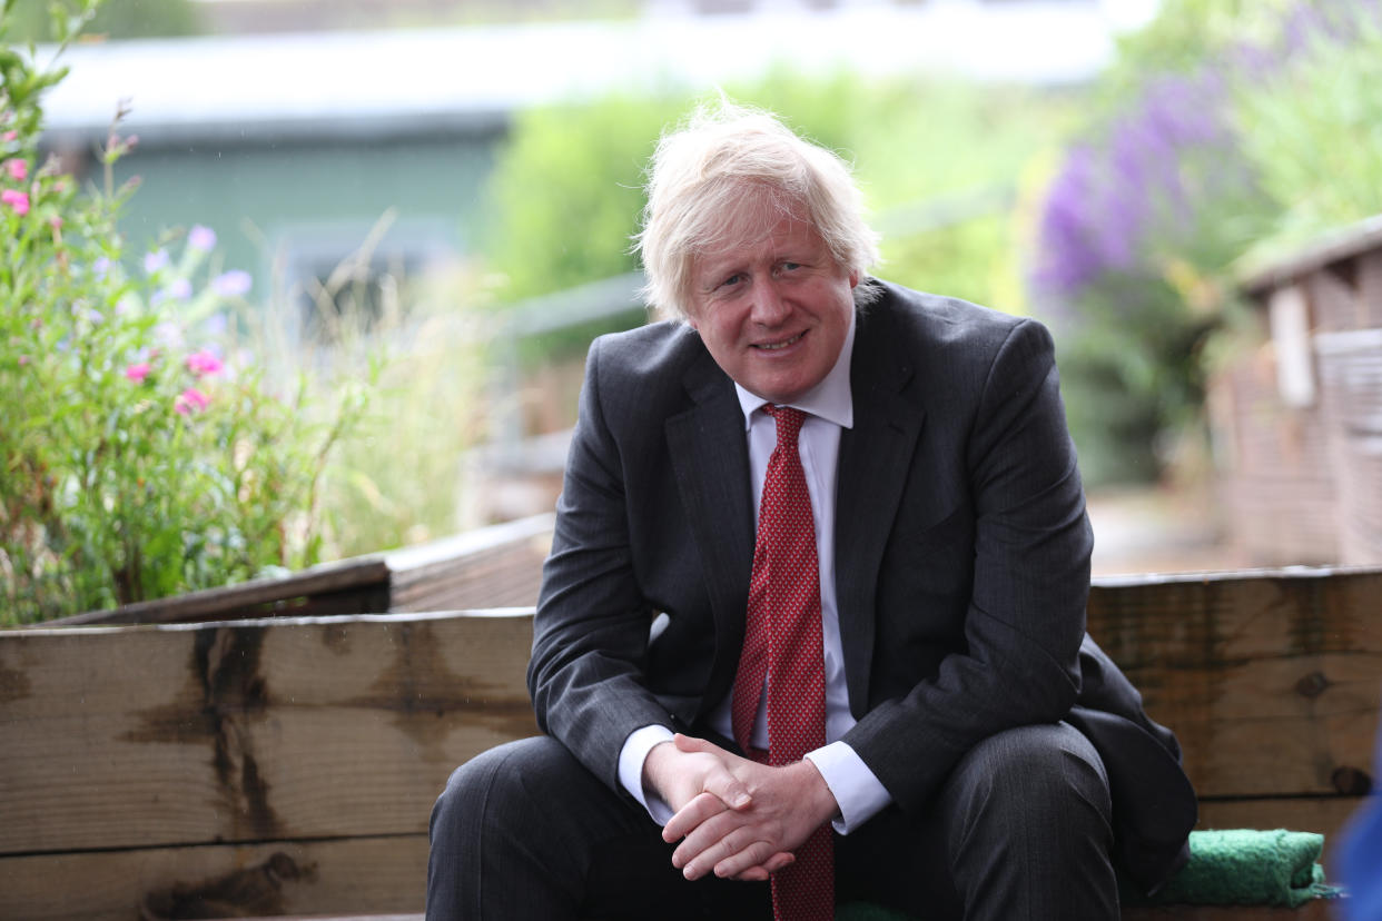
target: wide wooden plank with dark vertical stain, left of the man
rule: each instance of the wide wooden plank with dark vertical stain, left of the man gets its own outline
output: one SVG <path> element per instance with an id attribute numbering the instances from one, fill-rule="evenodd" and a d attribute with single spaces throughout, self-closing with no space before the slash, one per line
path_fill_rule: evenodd
<path id="1" fill-rule="evenodd" d="M 0 634 L 0 853 L 417 833 L 533 735 L 531 617 Z"/>

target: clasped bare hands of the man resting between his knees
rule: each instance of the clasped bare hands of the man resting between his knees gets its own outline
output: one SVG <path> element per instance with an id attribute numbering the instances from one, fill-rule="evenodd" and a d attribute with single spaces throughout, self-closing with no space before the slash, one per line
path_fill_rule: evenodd
<path id="1" fill-rule="evenodd" d="M 662 838 L 681 841 L 672 864 L 687 880 L 767 880 L 837 809 L 807 759 L 770 768 L 683 735 L 648 753 L 644 779 L 676 811 Z"/>

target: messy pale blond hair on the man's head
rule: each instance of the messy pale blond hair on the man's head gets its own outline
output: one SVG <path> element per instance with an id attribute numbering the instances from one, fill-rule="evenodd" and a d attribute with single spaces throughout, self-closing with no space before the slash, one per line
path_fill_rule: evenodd
<path id="1" fill-rule="evenodd" d="M 860 279 L 878 264 L 878 233 L 849 164 L 792 133 L 771 112 L 726 98 L 698 106 L 663 133 L 648 168 L 648 204 L 634 250 L 643 257 L 647 302 L 684 319 L 695 260 L 753 221 L 804 221 L 836 264 Z M 855 289 L 858 295 L 868 286 Z"/>

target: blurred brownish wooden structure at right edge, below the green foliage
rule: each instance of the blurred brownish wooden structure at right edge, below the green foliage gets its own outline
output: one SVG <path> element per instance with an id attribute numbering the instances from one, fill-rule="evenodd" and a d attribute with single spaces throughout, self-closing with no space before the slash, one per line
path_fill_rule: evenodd
<path id="1" fill-rule="evenodd" d="M 1260 565 L 1382 562 L 1382 215 L 1242 290 L 1258 345 L 1209 388 L 1233 543 Z"/>

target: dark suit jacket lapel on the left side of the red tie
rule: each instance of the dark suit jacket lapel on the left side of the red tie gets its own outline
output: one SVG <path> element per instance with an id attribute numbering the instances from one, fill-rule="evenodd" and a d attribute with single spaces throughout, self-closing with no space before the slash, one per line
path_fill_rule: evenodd
<path id="1" fill-rule="evenodd" d="M 706 352 L 685 376 L 692 406 L 666 421 L 681 504 L 699 552 L 714 617 L 714 663 L 705 700 L 730 690 L 744 645 L 753 568 L 753 500 L 744 410 L 734 385 Z"/>

